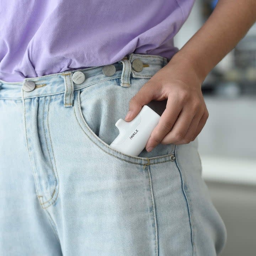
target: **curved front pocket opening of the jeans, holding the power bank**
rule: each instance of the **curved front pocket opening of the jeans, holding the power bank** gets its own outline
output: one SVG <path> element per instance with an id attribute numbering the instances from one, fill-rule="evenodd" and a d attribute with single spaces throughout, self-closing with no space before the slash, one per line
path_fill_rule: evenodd
<path id="1" fill-rule="evenodd" d="M 136 81 L 131 87 L 122 87 L 119 85 L 119 79 L 113 79 L 74 91 L 76 119 L 88 138 L 92 139 L 101 150 L 110 152 L 114 156 L 123 156 L 133 161 L 135 159 L 157 161 L 169 158 L 174 154 L 174 144 L 158 144 L 151 152 L 147 152 L 144 148 L 139 156 L 127 155 L 109 146 L 119 134 L 115 123 L 119 118 L 124 119 L 130 98 L 147 79 L 136 79 Z"/>

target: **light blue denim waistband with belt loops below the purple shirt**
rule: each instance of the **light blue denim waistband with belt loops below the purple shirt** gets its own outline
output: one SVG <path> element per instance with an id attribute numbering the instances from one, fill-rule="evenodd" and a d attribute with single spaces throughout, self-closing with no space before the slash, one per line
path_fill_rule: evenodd
<path id="1" fill-rule="evenodd" d="M 142 61 L 142 70 L 136 71 L 136 68 L 134 69 L 133 61 L 135 59 L 140 59 Z M 133 76 L 134 78 L 151 78 L 151 76 L 153 76 L 161 67 L 165 66 L 168 61 L 167 58 L 160 55 L 130 53 L 122 60 L 112 64 L 116 71 L 111 76 L 106 76 L 103 73 L 102 69 L 106 65 L 102 65 L 34 78 L 24 78 L 21 82 L 6 82 L 0 79 L 0 99 L 22 100 L 22 98 L 25 99 L 65 93 L 66 102 L 64 103 L 68 106 L 70 103 L 72 105 L 72 102 L 68 99 L 74 90 L 79 90 L 104 80 L 117 78 L 120 79 L 121 86 L 128 87 L 130 86 L 130 76 Z M 85 80 L 81 84 L 73 82 L 72 76 L 76 71 L 81 71 L 85 75 Z M 35 89 L 30 92 L 23 90 L 23 84 L 26 81 L 33 81 Z"/>

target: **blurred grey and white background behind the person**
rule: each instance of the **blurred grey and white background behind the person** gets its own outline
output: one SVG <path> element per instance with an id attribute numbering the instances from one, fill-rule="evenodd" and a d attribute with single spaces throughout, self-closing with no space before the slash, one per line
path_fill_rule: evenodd
<path id="1" fill-rule="evenodd" d="M 180 49 L 217 0 L 196 0 Z M 209 117 L 198 135 L 202 176 L 228 232 L 221 256 L 256 255 L 256 23 L 202 84 Z"/>

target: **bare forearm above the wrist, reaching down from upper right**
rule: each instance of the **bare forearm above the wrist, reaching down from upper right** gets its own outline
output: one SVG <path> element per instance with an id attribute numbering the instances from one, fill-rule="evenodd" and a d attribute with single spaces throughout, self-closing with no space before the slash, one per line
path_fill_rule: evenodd
<path id="1" fill-rule="evenodd" d="M 183 59 L 192 64 L 203 82 L 255 21 L 256 0 L 219 0 L 208 20 L 167 65 Z"/>

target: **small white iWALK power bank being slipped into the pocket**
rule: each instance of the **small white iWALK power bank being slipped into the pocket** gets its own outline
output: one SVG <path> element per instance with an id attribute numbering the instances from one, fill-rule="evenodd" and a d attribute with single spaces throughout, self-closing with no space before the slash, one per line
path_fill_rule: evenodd
<path id="1" fill-rule="evenodd" d="M 110 144 L 111 148 L 124 154 L 138 156 L 158 124 L 160 116 L 149 106 L 144 105 L 138 115 L 130 122 L 119 119 L 115 126 L 119 135 Z"/>

